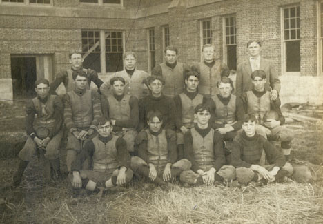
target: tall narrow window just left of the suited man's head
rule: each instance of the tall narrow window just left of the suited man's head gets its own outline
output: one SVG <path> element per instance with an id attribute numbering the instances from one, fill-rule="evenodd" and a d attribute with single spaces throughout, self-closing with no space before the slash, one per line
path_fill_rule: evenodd
<path id="1" fill-rule="evenodd" d="M 237 70 L 237 34 L 235 16 L 224 17 L 224 62 L 228 68 Z"/>

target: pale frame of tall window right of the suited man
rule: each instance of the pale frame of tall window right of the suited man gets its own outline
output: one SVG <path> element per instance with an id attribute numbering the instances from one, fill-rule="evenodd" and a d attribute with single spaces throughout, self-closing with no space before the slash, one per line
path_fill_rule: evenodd
<path id="1" fill-rule="evenodd" d="M 287 72 L 287 68 L 286 68 L 286 42 L 288 41 L 302 41 L 301 38 L 297 39 L 297 32 L 296 32 L 296 39 L 293 39 L 293 40 L 285 40 L 285 29 L 284 29 L 284 10 L 286 8 L 295 8 L 295 7 L 300 7 L 300 4 L 297 3 L 297 4 L 292 4 L 292 5 L 288 5 L 288 6 L 282 6 L 280 8 L 280 35 L 281 35 L 281 51 L 282 51 L 282 54 L 281 54 L 281 62 L 282 62 L 282 65 L 281 65 L 281 69 L 282 69 L 282 75 L 300 75 L 301 74 L 301 71 L 300 72 Z M 296 18 L 296 17 L 295 17 Z M 301 26 L 300 26 L 301 28 Z M 302 61 L 300 61 L 300 69 L 301 69 L 301 64 Z"/>

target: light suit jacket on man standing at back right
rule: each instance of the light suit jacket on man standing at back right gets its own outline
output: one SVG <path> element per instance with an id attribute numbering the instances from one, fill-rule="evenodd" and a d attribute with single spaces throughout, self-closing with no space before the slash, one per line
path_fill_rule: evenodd
<path id="1" fill-rule="evenodd" d="M 277 72 L 273 63 L 267 59 L 260 58 L 260 70 L 266 72 L 265 90 L 277 90 L 280 92 L 280 79 L 278 79 Z M 253 83 L 251 82 L 251 65 L 250 61 L 244 61 L 237 66 L 237 79 L 235 81 L 235 94 L 241 96 L 242 93 L 252 90 Z"/>

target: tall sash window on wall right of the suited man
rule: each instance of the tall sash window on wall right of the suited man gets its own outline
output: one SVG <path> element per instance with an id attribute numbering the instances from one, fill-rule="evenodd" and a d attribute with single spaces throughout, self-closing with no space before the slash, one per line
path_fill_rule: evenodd
<path id="1" fill-rule="evenodd" d="M 282 9 L 283 71 L 300 72 L 300 6 Z"/>

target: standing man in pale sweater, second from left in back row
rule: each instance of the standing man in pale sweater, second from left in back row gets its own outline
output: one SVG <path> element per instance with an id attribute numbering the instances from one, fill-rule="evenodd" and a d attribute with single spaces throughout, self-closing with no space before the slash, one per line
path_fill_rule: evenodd
<path id="1" fill-rule="evenodd" d="M 148 73 L 145 71 L 137 70 L 137 54 L 135 52 L 125 52 L 124 53 L 124 63 L 126 67 L 120 72 L 115 72 L 104 84 L 101 85 L 100 91 L 102 94 L 107 95 L 112 93 L 110 79 L 113 77 L 122 77 L 126 81 L 124 87 L 124 94 L 129 94 L 130 96 L 136 96 L 137 99 L 142 99 L 144 96 L 148 95 L 148 88 L 144 84 L 144 81 L 148 77 Z"/>

